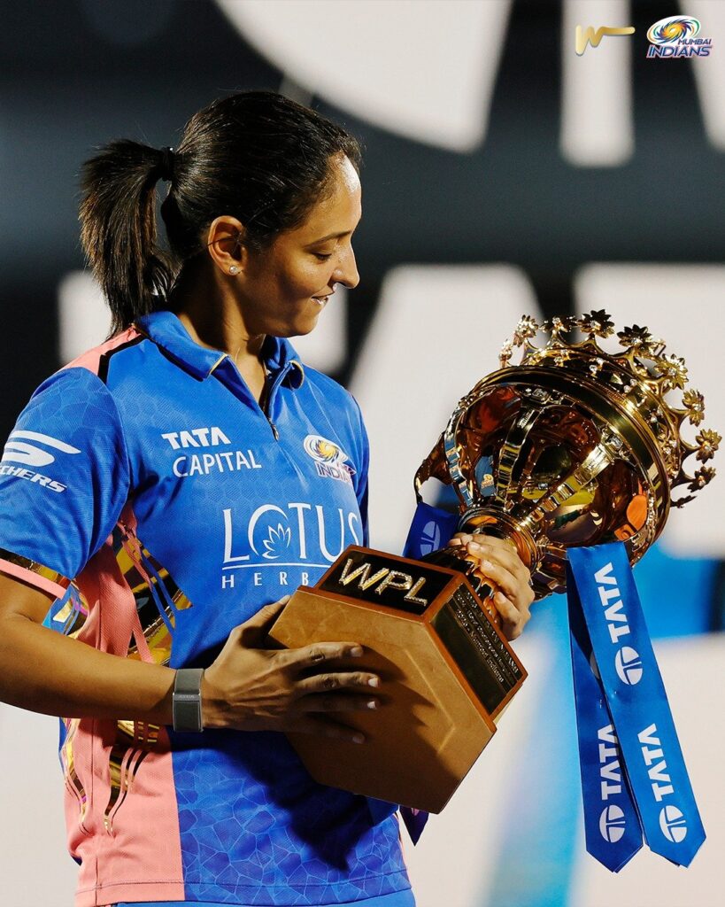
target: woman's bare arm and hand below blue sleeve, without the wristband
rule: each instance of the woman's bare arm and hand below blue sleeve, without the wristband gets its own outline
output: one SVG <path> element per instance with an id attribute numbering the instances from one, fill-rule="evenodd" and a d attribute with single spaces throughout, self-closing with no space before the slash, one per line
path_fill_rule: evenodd
<path id="1" fill-rule="evenodd" d="M 52 597 L 0 574 L 0 700 L 45 715 L 170 725 L 176 671 L 119 658 L 41 626 Z M 285 600 L 232 630 L 202 684 L 205 727 L 362 736 L 327 712 L 377 707 L 374 675 L 353 670 L 354 642 L 266 649 Z M 312 673 L 311 673 L 312 672 Z M 371 706 L 371 703 L 373 705 Z"/>

